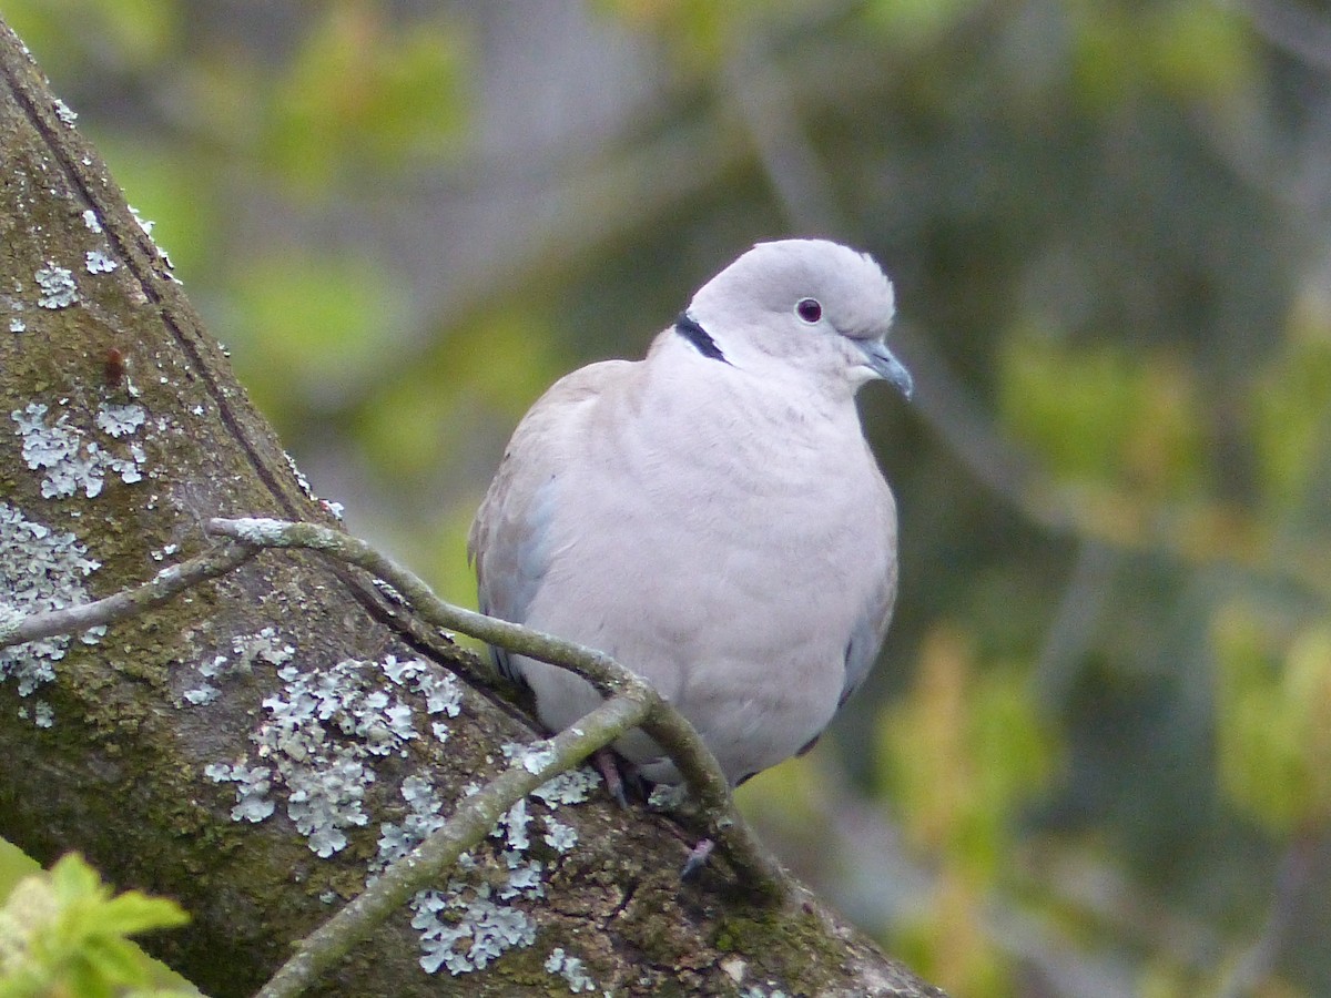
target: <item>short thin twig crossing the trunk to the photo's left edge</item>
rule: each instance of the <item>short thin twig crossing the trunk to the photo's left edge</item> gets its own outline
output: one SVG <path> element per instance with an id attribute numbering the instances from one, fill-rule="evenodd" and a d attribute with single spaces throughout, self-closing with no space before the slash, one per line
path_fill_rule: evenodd
<path id="1" fill-rule="evenodd" d="M 95 603 L 52 609 L 28 616 L 13 615 L 0 619 L 0 648 L 25 641 L 37 641 L 56 635 L 71 635 L 92 627 L 110 624 L 125 617 L 160 607 L 177 593 L 209 579 L 226 575 L 256 555 L 250 544 L 226 543 L 196 555 L 188 562 L 168 566 L 133 589 L 117 592 Z"/>

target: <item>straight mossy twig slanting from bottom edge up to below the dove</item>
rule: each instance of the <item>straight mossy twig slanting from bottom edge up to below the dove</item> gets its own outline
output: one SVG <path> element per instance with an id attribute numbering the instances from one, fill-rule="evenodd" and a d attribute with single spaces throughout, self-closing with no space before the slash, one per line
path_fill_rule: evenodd
<path id="1" fill-rule="evenodd" d="M 442 828 L 389 866 L 354 901 L 305 937 L 295 955 L 278 969 L 256 998 L 290 998 L 314 985 L 325 970 L 366 939 L 417 892 L 437 885 L 458 857 L 482 842 L 516 801 L 638 727 L 650 709 L 648 703 L 631 693 L 611 697 L 544 743 L 546 750 L 528 750 L 515 758 L 508 769 L 482 790 L 465 797 Z"/>

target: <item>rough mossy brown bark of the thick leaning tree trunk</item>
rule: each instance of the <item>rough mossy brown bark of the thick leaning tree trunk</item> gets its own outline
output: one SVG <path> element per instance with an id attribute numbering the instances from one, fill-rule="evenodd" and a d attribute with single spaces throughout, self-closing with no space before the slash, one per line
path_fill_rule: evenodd
<path id="1" fill-rule="evenodd" d="M 3 24 L 0 76 L 0 543 L 9 548 L 8 558 L 0 551 L 0 607 L 31 611 L 149 579 L 212 543 L 202 534 L 210 516 L 330 522 Z M 419 681 L 389 677 L 393 661 L 417 659 L 422 675 L 455 677 L 457 716 L 430 713 Z M 447 801 L 504 765 L 503 744 L 535 737 L 484 675 L 362 575 L 310 555 L 265 554 L 104 635 L 0 657 L 0 834 L 44 862 L 77 849 L 118 888 L 176 898 L 192 923 L 149 947 L 209 994 L 249 994 L 293 941 L 358 893 L 381 824 L 407 822 L 407 777 L 418 788 L 427 780 L 447 812 Z M 276 757 L 285 750 L 278 701 L 297 701 L 299 676 L 351 687 L 337 695 L 341 713 L 321 728 L 319 750 L 325 764 L 359 766 L 359 789 L 341 805 L 363 824 L 321 825 L 319 812 L 318 828 L 302 833 L 293 820 L 294 785 L 310 773 L 298 758 Z M 411 713 L 397 717 L 395 735 L 378 725 L 390 752 L 366 754 L 354 748 L 366 732 L 335 724 L 382 721 L 366 699 L 381 689 Z M 447 725 L 446 741 L 434 724 Z M 234 765 L 268 768 L 272 788 L 208 774 L 234 774 L 217 769 Z M 403 912 L 325 991 L 568 993 L 570 977 L 547 969 L 558 947 L 582 961 L 598 991 L 614 994 L 752 985 L 940 994 L 812 896 L 781 908 L 755 902 L 724 857 L 681 885 L 687 833 L 603 798 L 592 793 L 558 816 L 528 800 L 530 842 L 514 841 L 523 836 L 511 822 L 507 841 L 476 850 L 476 869 L 453 888 L 473 900 L 488 890 L 486 910 L 518 918 L 530 938 L 484 969 L 427 975 L 421 934 Z M 543 837 L 554 822 L 576 834 L 566 852 Z M 321 845 L 330 856 L 315 853 Z M 504 849 L 542 864 L 542 896 L 528 888 L 500 897 L 511 878 Z M 466 922 L 463 908 L 447 909 L 445 921 Z"/>

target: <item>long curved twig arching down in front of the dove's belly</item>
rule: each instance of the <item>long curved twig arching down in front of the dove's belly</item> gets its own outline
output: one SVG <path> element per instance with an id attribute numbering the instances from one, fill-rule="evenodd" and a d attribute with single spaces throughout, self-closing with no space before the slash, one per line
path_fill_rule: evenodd
<path id="1" fill-rule="evenodd" d="M 397 589 L 421 619 L 430 624 L 461 631 L 487 644 L 568 669 L 607 697 L 627 696 L 646 704 L 647 715 L 639 727 L 675 762 L 707 817 L 709 834 L 725 850 L 744 886 L 771 900 L 789 897 L 789 878 L 740 816 L 729 782 L 693 725 L 651 685 L 608 655 L 445 603 L 417 575 L 363 540 L 315 523 L 266 518 L 213 519 L 205 530 L 257 548 L 306 548 L 357 566 Z"/>

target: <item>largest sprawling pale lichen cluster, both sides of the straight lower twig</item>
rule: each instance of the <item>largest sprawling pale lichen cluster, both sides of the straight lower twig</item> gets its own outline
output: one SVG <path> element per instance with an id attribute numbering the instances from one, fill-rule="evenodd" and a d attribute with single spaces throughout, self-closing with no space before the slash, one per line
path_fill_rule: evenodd
<path id="1" fill-rule="evenodd" d="M 447 719 L 462 713 L 462 687 L 439 667 L 421 659 L 386 656 L 379 661 L 345 659 L 327 668 L 297 665 L 298 656 L 270 629 L 237 639 L 233 651 L 258 649 L 253 660 L 282 659 L 277 679 L 282 688 L 264 699 L 264 720 L 250 735 L 258 764 L 221 762 L 205 774 L 236 786 L 236 821 L 264 821 L 281 806 L 306 836 L 309 848 L 330 857 L 347 846 L 349 833 L 370 822 L 370 788 L 379 781 L 377 761 L 406 756 L 419 739 L 417 719 L 430 721 L 437 739 L 447 735 Z M 241 656 L 244 657 L 244 656 Z M 216 655 L 197 665 L 205 688 L 225 687 L 240 659 Z M 548 743 L 503 747 L 510 765 L 540 772 L 548 764 Z M 587 800 L 599 777 L 587 769 L 563 773 L 535 796 L 552 809 Z M 475 784 L 461 796 L 479 792 Z M 438 832 L 457 805 L 441 793 L 429 770 L 407 776 L 398 786 L 406 804 L 395 821 L 381 821 L 378 852 L 369 862 L 371 877 L 403 860 Z M 518 801 L 499 818 L 490 841 L 463 853 L 453 877 L 438 889 L 411 900 L 411 925 L 421 938 L 421 967 L 451 974 L 480 970 L 515 947 L 534 945 L 536 922 L 523 910 L 546 894 L 546 865 L 551 850 L 567 853 L 578 844 L 576 832 L 546 813 Z M 588 990 L 590 977 L 576 958 L 564 958 L 560 970 L 570 987 Z M 567 973 L 566 973 L 567 970 Z M 594 987 L 594 985 L 592 985 Z"/>

